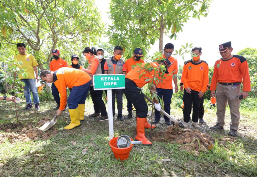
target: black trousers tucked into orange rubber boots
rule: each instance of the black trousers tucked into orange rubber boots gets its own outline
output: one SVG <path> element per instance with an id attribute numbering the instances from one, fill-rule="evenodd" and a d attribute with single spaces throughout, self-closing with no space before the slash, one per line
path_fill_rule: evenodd
<path id="1" fill-rule="evenodd" d="M 125 89 L 123 93 L 126 95 L 127 99 L 134 105 L 137 113 L 137 117 L 146 118 L 148 113 L 148 106 L 145 101 L 143 94 L 140 94 L 141 89 L 137 88 L 135 82 L 128 78 L 125 78 Z"/>

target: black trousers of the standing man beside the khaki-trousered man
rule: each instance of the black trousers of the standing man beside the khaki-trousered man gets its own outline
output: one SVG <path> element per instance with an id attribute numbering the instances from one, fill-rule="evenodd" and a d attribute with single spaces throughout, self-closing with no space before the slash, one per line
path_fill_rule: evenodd
<path id="1" fill-rule="evenodd" d="M 199 98 L 199 92 L 195 90 L 191 90 L 191 93 L 187 93 L 186 89 L 184 89 L 184 95 L 183 95 L 183 101 L 184 101 L 184 122 L 189 122 L 190 120 L 190 113 L 192 108 L 192 102 L 193 102 L 193 115 L 192 115 L 192 121 L 198 122 L 199 118 L 199 107 L 201 98 Z"/>

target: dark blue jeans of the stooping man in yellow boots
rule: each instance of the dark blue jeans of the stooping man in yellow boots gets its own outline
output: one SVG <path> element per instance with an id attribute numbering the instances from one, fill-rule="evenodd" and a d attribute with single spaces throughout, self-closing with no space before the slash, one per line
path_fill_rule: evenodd
<path id="1" fill-rule="evenodd" d="M 85 104 L 91 80 L 82 86 L 74 86 L 68 98 L 69 109 L 76 109 L 78 104 Z"/>

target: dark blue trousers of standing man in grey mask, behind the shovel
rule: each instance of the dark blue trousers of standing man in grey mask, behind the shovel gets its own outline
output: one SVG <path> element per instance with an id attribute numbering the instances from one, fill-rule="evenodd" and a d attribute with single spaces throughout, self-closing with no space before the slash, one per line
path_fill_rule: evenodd
<path id="1" fill-rule="evenodd" d="M 173 94 L 173 90 L 172 89 L 160 89 L 160 88 L 156 88 L 157 91 L 157 95 L 160 97 L 160 99 L 163 98 L 163 104 L 164 104 L 164 111 L 168 114 L 171 113 L 171 97 Z M 155 115 L 154 118 L 156 120 L 160 120 L 161 118 L 161 114 L 159 111 L 157 111 L 156 109 L 154 109 L 155 111 Z M 163 118 L 165 120 L 170 120 L 167 116 L 163 115 Z"/>

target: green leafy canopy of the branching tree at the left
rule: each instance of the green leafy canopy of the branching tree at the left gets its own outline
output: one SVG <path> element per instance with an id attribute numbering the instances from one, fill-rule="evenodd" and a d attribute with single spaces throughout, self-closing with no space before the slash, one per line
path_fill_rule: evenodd
<path id="1" fill-rule="evenodd" d="M 15 44 L 26 43 L 41 69 L 49 68 L 55 48 L 61 58 L 81 54 L 86 43 L 96 43 L 104 26 L 94 0 L 6 0 L 0 6 L 1 44 L 17 53 Z"/>

